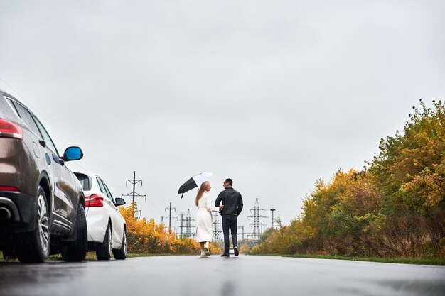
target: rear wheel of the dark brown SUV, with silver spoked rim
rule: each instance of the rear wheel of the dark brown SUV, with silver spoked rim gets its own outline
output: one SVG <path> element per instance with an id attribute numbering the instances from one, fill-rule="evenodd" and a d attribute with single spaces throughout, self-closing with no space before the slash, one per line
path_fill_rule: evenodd
<path id="1" fill-rule="evenodd" d="M 33 231 L 16 235 L 16 255 L 22 263 L 45 262 L 50 253 L 50 220 L 48 201 L 43 188 L 37 187 Z"/>

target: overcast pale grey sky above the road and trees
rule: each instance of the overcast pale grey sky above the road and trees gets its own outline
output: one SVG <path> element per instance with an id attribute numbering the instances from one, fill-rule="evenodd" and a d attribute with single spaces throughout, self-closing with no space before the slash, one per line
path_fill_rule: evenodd
<path id="1" fill-rule="evenodd" d="M 444 99 L 444 1 L 0 0 L 0 88 L 70 163 L 156 222 L 213 172 L 284 223 L 318 178 L 362 169 L 412 106 Z M 129 202 L 131 199 L 127 199 Z M 176 224 L 178 226 L 179 223 Z M 173 224 L 175 226 L 175 224 Z"/>

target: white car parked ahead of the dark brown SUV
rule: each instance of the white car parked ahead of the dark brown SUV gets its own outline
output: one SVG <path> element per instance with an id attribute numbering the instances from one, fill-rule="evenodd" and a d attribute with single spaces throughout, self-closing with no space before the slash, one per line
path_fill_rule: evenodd
<path id="1" fill-rule="evenodd" d="M 88 251 L 96 251 L 98 260 L 127 258 L 127 229 L 117 207 L 124 199 L 113 198 L 105 182 L 94 172 L 76 171 L 85 193 Z"/>

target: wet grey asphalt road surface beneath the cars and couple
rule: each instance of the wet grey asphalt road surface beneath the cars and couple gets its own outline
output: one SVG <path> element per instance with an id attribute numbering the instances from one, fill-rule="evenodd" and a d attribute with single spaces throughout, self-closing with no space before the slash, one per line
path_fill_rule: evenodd
<path id="1" fill-rule="evenodd" d="M 0 295 L 445 295 L 445 267 L 242 256 L 0 263 Z"/>

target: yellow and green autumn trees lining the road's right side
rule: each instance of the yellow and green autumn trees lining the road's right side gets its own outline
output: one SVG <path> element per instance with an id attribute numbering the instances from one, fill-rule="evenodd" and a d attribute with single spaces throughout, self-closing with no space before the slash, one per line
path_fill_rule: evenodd
<path id="1" fill-rule="evenodd" d="M 250 254 L 445 258 L 445 108 L 422 100 L 364 170 L 317 180 L 303 212 L 268 229 Z M 438 263 L 437 263 L 438 262 Z"/>

